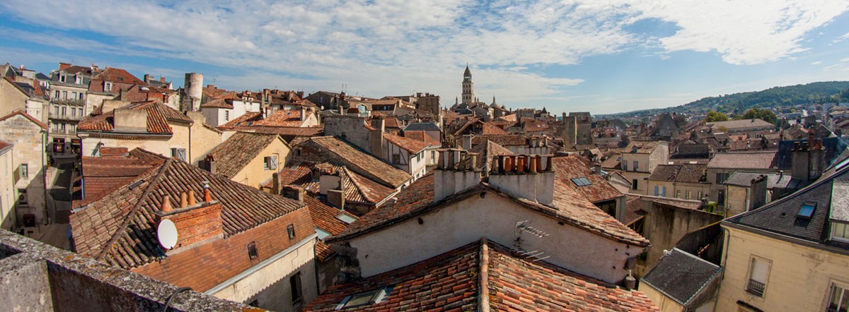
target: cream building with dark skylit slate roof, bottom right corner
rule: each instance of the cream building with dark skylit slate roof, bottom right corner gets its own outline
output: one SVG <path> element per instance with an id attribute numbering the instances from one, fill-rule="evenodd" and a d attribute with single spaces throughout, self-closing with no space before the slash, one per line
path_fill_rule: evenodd
<path id="1" fill-rule="evenodd" d="M 799 192 L 722 221 L 724 274 L 717 311 L 847 309 L 845 164 Z"/>

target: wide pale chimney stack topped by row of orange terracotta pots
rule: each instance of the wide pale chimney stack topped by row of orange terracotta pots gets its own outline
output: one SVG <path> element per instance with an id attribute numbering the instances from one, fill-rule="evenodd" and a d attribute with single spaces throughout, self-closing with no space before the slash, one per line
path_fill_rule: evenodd
<path id="1" fill-rule="evenodd" d="M 489 183 L 517 198 L 550 205 L 554 202 L 554 155 L 495 156 Z"/>

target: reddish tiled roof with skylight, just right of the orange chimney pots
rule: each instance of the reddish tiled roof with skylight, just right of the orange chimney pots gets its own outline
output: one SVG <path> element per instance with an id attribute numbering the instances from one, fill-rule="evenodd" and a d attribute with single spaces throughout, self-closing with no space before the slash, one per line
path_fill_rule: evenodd
<path id="1" fill-rule="evenodd" d="M 585 157 L 574 154 L 556 157 L 553 164 L 555 179 L 558 179 L 563 185 L 571 187 L 590 202 L 598 203 L 623 195 L 616 187 L 610 185 L 610 182 L 605 180 L 604 176 L 594 173 L 589 160 Z M 574 181 L 571 181 L 571 179 L 580 177 L 587 178 L 592 184 L 578 187 Z"/>

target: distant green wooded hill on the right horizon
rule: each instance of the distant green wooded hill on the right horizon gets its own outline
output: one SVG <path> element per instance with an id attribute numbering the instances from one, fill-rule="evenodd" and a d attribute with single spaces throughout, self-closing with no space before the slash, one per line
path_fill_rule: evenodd
<path id="1" fill-rule="evenodd" d="M 841 100 L 842 98 L 842 100 Z M 836 103 L 849 101 L 849 81 L 812 82 L 807 85 L 774 86 L 757 92 L 740 92 L 700 100 L 664 109 L 644 109 L 627 113 L 608 114 L 608 117 L 646 116 L 661 113 L 706 114 L 716 110 L 727 114 L 743 114 L 747 109 L 773 109 L 805 103 Z"/>

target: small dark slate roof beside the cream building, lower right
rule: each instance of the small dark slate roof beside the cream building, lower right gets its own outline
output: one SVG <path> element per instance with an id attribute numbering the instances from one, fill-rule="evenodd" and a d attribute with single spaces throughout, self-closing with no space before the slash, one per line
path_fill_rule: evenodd
<path id="1" fill-rule="evenodd" d="M 678 304 L 686 305 L 719 276 L 719 270 L 719 265 L 672 248 L 661 257 L 661 262 L 654 269 L 643 276 L 642 281 L 664 292 Z"/>

